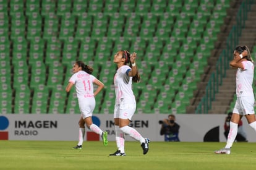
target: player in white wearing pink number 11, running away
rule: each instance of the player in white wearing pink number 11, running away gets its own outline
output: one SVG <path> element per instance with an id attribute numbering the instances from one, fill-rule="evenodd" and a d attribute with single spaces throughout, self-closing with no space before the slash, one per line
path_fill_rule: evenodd
<path id="1" fill-rule="evenodd" d="M 85 65 L 82 61 L 75 62 L 72 70 L 74 74 L 69 79 L 66 91 L 69 92 L 73 85 L 75 85 L 81 112 L 79 121 L 79 143 L 74 149 L 82 149 L 85 124 L 90 130 L 101 135 L 103 144 L 106 146 L 108 145 L 108 132 L 103 132 L 103 130 L 92 122 L 92 114 L 95 108 L 95 96 L 103 89 L 104 84 L 92 75 L 93 68 Z M 95 91 L 93 91 L 93 83 L 98 85 Z"/>

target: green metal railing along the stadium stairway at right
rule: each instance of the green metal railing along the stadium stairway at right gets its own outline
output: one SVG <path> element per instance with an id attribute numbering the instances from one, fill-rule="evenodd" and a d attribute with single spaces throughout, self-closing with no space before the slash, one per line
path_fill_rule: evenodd
<path id="1" fill-rule="evenodd" d="M 220 54 L 216 62 L 216 70 L 211 73 L 210 79 L 205 88 L 205 95 L 195 109 L 197 114 L 207 114 L 211 109 L 211 101 L 215 101 L 215 94 L 218 93 L 219 86 L 222 85 L 223 77 L 226 77 L 226 70 L 229 69 L 229 61 L 233 58 L 234 48 L 239 44 L 239 36 L 241 36 L 242 28 L 245 27 L 247 20 L 247 12 L 250 11 L 250 6 L 254 4 L 254 0 L 243 1 L 236 16 L 236 24 L 233 25 L 229 32 L 228 40 L 226 41 L 226 49 Z"/>

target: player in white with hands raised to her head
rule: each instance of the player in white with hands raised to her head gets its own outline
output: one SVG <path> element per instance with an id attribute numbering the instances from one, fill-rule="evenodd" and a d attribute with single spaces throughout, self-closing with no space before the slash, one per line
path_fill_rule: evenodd
<path id="1" fill-rule="evenodd" d="M 231 147 L 237 135 L 237 125 L 242 116 L 245 116 L 250 127 L 256 131 L 256 119 L 254 114 L 254 63 L 247 46 L 237 46 L 234 49 L 234 59 L 229 63 L 237 69 L 236 72 L 236 104 L 230 121 L 230 129 L 226 146 L 215 153 L 230 154 Z"/>

